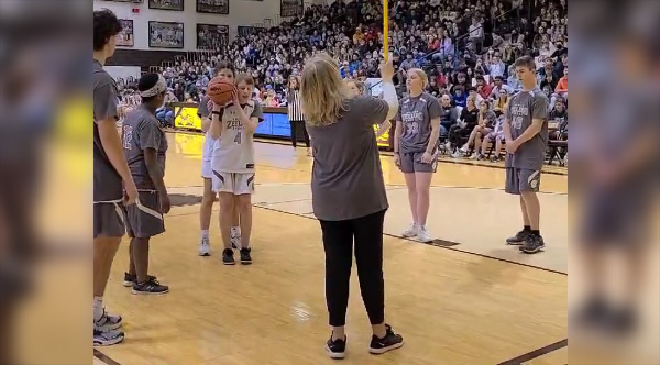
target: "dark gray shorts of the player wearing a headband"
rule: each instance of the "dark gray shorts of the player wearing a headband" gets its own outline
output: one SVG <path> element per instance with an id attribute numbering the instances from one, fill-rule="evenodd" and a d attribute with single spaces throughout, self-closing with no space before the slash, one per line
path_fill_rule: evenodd
<path id="1" fill-rule="evenodd" d="M 131 239 L 148 239 L 165 232 L 157 191 L 140 191 L 138 201 L 125 208 L 127 232 Z"/>

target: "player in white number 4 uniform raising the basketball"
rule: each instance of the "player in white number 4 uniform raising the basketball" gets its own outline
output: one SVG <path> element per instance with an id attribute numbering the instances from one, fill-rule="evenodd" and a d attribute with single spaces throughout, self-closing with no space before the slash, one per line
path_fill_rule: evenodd
<path id="1" fill-rule="evenodd" d="M 252 263 L 252 193 L 254 192 L 254 131 L 263 120 L 262 107 L 252 100 L 254 80 L 249 75 L 237 78 L 234 98 L 227 106 L 213 104 L 209 134 L 218 140 L 213 146 L 211 169 L 213 192 L 220 199 L 220 232 L 224 243 L 222 263 L 234 265 L 231 250 L 231 212 L 238 206 L 241 215 L 241 264 Z"/>

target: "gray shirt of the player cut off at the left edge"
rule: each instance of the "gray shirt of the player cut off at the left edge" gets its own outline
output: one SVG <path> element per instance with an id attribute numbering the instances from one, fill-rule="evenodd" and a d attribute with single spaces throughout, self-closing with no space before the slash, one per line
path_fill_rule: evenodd
<path id="1" fill-rule="evenodd" d="M 103 70 L 103 66 L 94 60 L 94 201 L 118 201 L 123 198 L 122 180 L 110 163 L 101 144 L 98 121 L 119 120 L 117 107 L 117 85 Z"/>

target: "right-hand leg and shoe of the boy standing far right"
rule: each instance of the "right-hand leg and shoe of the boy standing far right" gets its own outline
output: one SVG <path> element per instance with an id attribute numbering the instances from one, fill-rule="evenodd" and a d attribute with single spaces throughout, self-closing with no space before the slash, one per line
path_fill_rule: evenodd
<path id="1" fill-rule="evenodd" d="M 542 251 L 546 244 L 540 233 L 539 222 L 541 215 L 541 206 L 537 191 L 539 191 L 539 185 L 541 180 L 541 170 L 531 169 L 519 169 L 518 181 L 520 184 L 520 198 L 522 202 L 521 207 L 525 207 L 524 213 L 527 213 L 528 220 L 525 221 L 526 225 L 529 224 L 530 235 L 520 251 L 528 254 L 534 254 Z M 525 218 L 525 215 L 522 215 Z"/>

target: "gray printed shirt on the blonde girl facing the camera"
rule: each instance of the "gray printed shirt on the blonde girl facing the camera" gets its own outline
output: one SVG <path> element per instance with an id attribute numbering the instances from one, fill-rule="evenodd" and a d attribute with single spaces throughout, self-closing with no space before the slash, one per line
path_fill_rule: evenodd
<path id="1" fill-rule="evenodd" d="M 440 102 L 428 92 L 416 98 L 404 98 L 396 115 L 396 120 L 404 125 L 399 152 L 425 152 L 431 137 L 431 120 L 440 118 L 441 114 Z"/>

